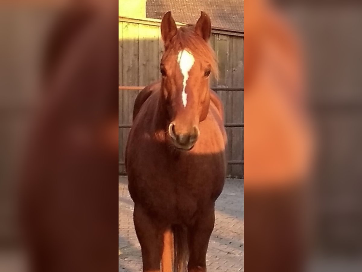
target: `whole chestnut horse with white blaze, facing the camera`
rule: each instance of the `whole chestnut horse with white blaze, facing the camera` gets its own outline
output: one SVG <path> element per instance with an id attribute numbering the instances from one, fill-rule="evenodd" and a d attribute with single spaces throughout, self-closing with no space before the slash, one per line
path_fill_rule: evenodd
<path id="1" fill-rule="evenodd" d="M 161 21 L 160 82 L 134 104 L 126 149 L 134 224 L 143 271 L 206 271 L 215 201 L 225 179 L 223 107 L 209 87 L 217 76 L 205 12 L 177 29 L 171 12 Z M 161 265 L 162 263 L 162 265 Z"/>

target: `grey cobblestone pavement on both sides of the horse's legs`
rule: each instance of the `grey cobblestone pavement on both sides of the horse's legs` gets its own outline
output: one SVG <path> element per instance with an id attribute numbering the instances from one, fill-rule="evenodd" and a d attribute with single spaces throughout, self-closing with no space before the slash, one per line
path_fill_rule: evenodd
<path id="1" fill-rule="evenodd" d="M 118 183 L 118 271 L 142 271 L 141 249 L 134 230 L 133 201 L 127 178 Z M 227 179 L 216 201 L 215 227 L 207 251 L 208 272 L 244 271 L 244 183 Z"/>

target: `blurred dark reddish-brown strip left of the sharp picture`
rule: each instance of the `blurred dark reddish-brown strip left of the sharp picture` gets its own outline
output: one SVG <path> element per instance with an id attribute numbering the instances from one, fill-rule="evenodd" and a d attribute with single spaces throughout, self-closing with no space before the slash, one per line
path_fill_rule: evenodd
<path id="1" fill-rule="evenodd" d="M 117 269 L 117 4 L 1 3 L 0 271 Z"/>

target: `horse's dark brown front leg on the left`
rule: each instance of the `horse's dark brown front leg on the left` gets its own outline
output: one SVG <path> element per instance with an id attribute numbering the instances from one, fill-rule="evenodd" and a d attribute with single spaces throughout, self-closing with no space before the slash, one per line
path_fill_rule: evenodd
<path id="1" fill-rule="evenodd" d="M 142 250 L 143 272 L 160 272 L 163 231 L 140 205 L 135 205 L 133 219 Z"/>

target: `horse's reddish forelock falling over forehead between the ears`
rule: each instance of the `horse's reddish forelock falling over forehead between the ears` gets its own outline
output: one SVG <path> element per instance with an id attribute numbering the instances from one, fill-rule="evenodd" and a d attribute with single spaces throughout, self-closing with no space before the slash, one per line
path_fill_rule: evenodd
<path id="1" fill-rule="evenodd" d="M 197 33 L 195 33 L 195 26 L 183 26 L 178 29 L 177 34 L 172 37 L 171 42 L 162 59 L 166 58 L 170 53 L 176 54 L 178 51 L 186 49 L 194 55 L 195 58 L 204 60 L 210 63 L 211 73 L 213 76 L 219 78 L 218 61 L 214 50 L 211 48 L 209 42 L 205 42 Z"/>

